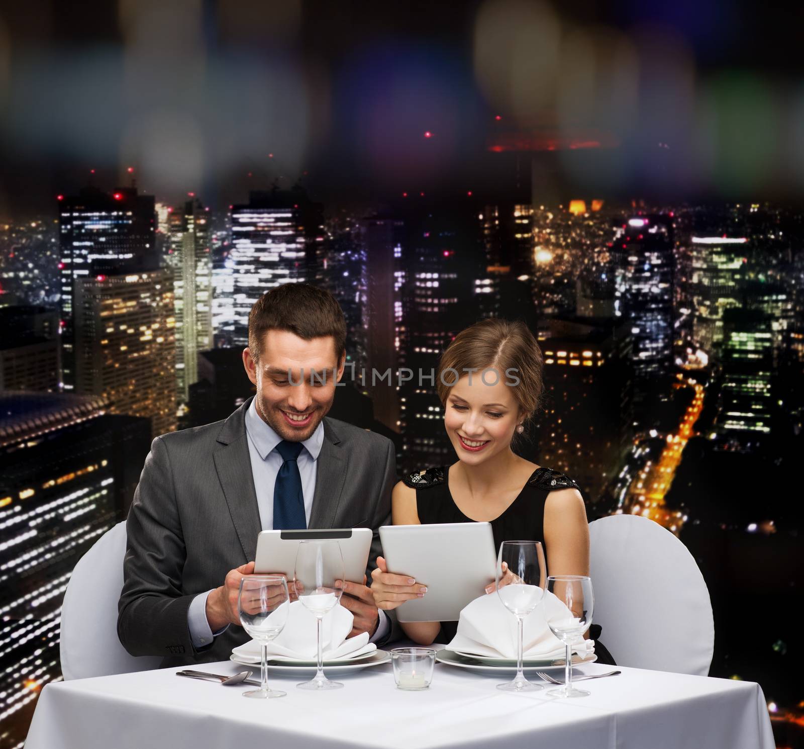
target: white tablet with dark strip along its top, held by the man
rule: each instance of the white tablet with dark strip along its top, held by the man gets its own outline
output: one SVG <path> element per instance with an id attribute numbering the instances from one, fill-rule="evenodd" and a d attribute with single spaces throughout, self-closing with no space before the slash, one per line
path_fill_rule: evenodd
<path id="1" fill-rule="evenodd" d="M 373 533 L 370 528 L 331 528 L 321 530 L 264 530 L 256 537 L 255 574 L 277 572 L 293 579 L 299 541 L 334 539 L 341 545 L 347 580 L 363 582 Z"/>

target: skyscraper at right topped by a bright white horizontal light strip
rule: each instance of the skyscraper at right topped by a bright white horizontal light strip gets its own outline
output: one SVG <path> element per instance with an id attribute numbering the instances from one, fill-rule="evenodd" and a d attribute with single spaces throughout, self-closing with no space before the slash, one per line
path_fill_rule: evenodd
<path id="1" fill-rule="evenodd" d="M 708 356 L 719 358 L 724 311 L 740 307 L 745 279 L 745 237 L 692 237 L 689 286 L 692 335 Z"/>

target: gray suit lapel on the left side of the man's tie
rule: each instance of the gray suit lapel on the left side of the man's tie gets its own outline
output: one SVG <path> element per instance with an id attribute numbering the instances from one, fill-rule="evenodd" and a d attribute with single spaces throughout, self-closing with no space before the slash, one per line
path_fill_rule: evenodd
<path id="1" fill-rule="evenodd" d="M 245 427 L 245 412 L 250 404 L 251 398 L 224 422 L 218 435 L 219 446 L 214 454 L 215 470 L 246 562 L 253 561 L 256 537 L 262 530 Z"/>

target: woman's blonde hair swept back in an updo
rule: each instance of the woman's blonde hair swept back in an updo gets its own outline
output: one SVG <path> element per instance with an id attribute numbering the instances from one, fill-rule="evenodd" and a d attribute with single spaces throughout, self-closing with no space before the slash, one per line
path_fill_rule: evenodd
<path id="1" fill-rule="evenodd" d="M 446 406 L 450 387 L 467 374 L 467 369 L 474 369 L 473 377 L 480 377 L 484 369 L 494 368 L 503 383 L 519 379 L 519 384 L 509 386 L 527 420 L 539 408 L 543 367 L 542 350 L 525 323 L 498 318 L 480 320 L 458 333 L 441 354 L 436 377 L 438 397 Z M 511 369 L 515 372 L 507 374 Z M 457 371 L 458 378 L 450 370 Z M 486 381 L 492 384 L 494 379 L 486 377 Z"/>

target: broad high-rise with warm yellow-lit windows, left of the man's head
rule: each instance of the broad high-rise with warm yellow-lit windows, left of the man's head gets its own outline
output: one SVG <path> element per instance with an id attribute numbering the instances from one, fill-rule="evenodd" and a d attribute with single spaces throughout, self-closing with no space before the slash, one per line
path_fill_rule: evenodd
<path id="1" fill-rule="evenodd" d="M 150 418 L 154 437 L 176 428 L 175 319 L 169 269 L 76 282 L 76 390 L 109 412 Z"/>

